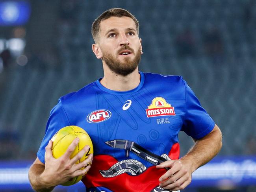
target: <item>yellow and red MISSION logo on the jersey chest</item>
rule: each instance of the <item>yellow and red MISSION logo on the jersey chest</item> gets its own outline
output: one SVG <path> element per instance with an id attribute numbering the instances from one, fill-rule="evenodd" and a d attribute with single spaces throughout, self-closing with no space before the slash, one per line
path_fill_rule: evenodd
<path id="1" fill-rule="evenodd" d="M 146 109 L 147 117 L 176 115 L 174 107 L 165 101 L 162 97 L 156 97 L 152 100 L 151 105 Z"/>

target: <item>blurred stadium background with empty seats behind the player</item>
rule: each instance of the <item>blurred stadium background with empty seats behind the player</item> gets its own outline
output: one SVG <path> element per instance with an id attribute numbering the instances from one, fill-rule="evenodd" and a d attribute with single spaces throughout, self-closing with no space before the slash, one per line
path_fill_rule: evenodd
<path id="1" fill-rule="evenodd" d="M 32 191 L 58 98 L 102 77 L 91 24 L 112 7 L 140 23 L 140 70 L 182 75 L 223 132 L 184 192 L 256 192 L 256 0 L 1 0 L 0 191 Z M 181 155 L 193 144 L 180 133 Z M 84 191 L 83 185 L 55 191 Z"/>

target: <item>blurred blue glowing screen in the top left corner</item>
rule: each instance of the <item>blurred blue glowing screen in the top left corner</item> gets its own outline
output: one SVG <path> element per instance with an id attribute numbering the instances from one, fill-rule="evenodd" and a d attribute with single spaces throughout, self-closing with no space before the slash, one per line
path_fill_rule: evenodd
<path id="1" fill-rule="evenodd" d="M 30 18 L 31 7 L 26 1 L 1 1 L 0 26 L 18 26 Z"/>

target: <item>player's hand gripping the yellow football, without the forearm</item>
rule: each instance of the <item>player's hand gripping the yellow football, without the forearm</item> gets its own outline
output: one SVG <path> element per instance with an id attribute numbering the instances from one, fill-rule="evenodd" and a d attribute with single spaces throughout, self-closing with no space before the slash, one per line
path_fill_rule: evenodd
<path id="1" fill-rule="evenodd" d="M 45 148 L 45 170 L 40 175 L 40 178 L 47 187 L 57 186 L 65 183 L 70 179 L 83 175 L 89 171 L 91 167 L 89 163 L 93 160 L 93 154 L 90 154 L 89 157 L 84 161 L 75 164 L 89 150 L 88 145 L 79 151 L 72 159 L 69 159 L 78 142 L 79 138 L 75 138 L 64 155 L 58 159 L 55 159 L 52 156 L 52 140 L 49 141 Z M 83 167 L 85 168 L 81 169 Z"/>

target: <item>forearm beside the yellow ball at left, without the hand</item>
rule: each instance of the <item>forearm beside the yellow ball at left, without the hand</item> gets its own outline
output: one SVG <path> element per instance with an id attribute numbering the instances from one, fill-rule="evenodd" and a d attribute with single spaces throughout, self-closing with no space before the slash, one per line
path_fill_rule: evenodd
<path id="1" fill-rule="evenodd" d="M 40 176 L 44 170 L 45 166 L 41 164 L 33 164 L 28 172 L 30 184 L 36 192 L 51 192 L 54 189 L 54 186 L 47 186 L 42 182 Z"/>

